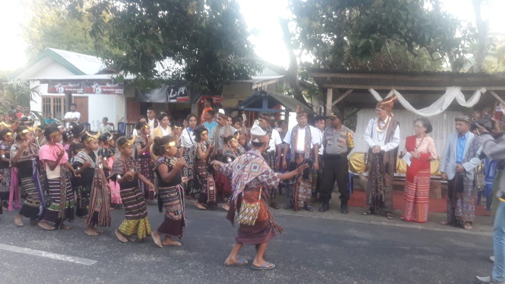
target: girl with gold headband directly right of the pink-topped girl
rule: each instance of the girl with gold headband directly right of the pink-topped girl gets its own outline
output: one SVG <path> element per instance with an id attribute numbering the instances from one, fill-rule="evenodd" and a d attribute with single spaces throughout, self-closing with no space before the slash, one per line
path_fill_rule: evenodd
<path id="1" fill-rule="evenodd" d="M 102 161 L 96 158 L 95 152 L 98 150 L 98 137 L 100 133 L 91 134 L 85 132 L 81 136 L 84 149 L 74 157 L 75 174 L 81 176 L 81 199 L 89 197 L 89 211 L 86 216 L 86 229 L 84 233 L 89 236 L 96 236 L 102 231 L 95 228 L 96 225 L 108 227 L 111 225 L 111 192 L 110 186 L 105 178 Z M 85 204 L 82 201 L 82 204 Z M 86 213 L 78 212 L 81 216 Z"/>

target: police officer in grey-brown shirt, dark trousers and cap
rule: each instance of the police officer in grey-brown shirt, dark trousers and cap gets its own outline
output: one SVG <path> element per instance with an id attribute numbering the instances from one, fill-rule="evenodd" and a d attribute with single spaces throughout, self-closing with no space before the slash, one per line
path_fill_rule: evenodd
<path id="1" fill-rule="evenodd" d="M 340 212 L 347 214 L 347 201 L 349 200 L 347 155 L 354 148 L 354 134 L 342 125 L 344 120 L 342 113 L 331 113 L 328 119 L 331 121 L 331 125 L 325 129 L 323 141 L 321 141 L 324 145 L 324 176 L 320 192 L 323 205 L 319 208 L 319 212 L 327 211 L 330 208 L 331 192 L 337 182 L 340 193 Z"/>

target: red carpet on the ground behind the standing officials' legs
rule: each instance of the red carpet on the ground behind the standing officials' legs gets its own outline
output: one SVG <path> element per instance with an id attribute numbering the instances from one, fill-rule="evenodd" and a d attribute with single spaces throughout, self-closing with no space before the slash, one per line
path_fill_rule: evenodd
<path id="1" fill-rule="evenodd" d="M 350 195 L 349 206 L 366 206 L 367 194 L 361 190 L 354 190 L 354 193 Z M 403 209 L 403 192 L 393 191 L 393 208 Z M 441 199 L 430 199 L 430 205 L 428 207 L 429 212 L 446 212 L 447 211 L 447 197 L 443 196 Z M 491 216 L 491 212 L 486 211 L 485 201 L 481 201 L 481 205 L 475 207 L 475 215 L 477 216 Z"/>

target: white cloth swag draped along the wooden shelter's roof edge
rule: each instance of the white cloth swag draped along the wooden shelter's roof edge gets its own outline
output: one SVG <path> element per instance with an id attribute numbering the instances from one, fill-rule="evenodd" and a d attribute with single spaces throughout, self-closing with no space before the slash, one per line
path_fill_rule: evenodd
<path id="1" fill-rule="evenodd" d="M 370 93 L 372 96 L 377 100 L 381 101 L 382 97 L 375 91 L 374 89 L 369 89 Z M 415 113 L 418 116 L 422 117 L 433 117 L 436 115 L 439 115 L 440 113 L 444 112 L 447 107 L 449 107 L 450 103 L 456 99 L 456 101 L 465 107 L 472 107 L 474 106 L 477 102 L 480 100 L 481 94 L 485 93 L 486 89 L 482 88 L 480 90 L 477 90 L 474 92 L 472 97 L 468 101 L 465 99 L 465 95 L 461 92 L 461 87 L 447 87 L 445 89 L 445 93 L 437 99 L 432 105 L 421 108 L 421 109 L 415 109 L 398 91 L 396 90 L 391 90 L 387 96 L 390 97 L 393 94 L 396 95 L 396 100 L 403 106 L 405 109 L 408 111 L 411 111 Z"/>

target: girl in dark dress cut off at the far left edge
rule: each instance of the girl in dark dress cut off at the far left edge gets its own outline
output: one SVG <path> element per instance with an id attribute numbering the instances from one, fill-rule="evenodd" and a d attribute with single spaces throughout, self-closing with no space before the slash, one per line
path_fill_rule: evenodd
<path id="1" fill-rule="evenodd" d="M 0 156 L 2 157 L 2 161 L 0 162 L 0 175 L 2 175 L 3 179 L 0 180 L 0 200 L 2 200 L 1 207 L 5 207 L 8 209 L 9 193 L 11 190 L 11 146 L 14 142 L 14 132 L 8 128 L 0 131 Z M 17 185 L 17 182 L 16 182 Z M 18 189 L 19 194 L 19 189 Z M 16 200 L 17 205 L 19 206 L 19 195 Z M 11 209 L 12 210 L 12 209 Z"/>

